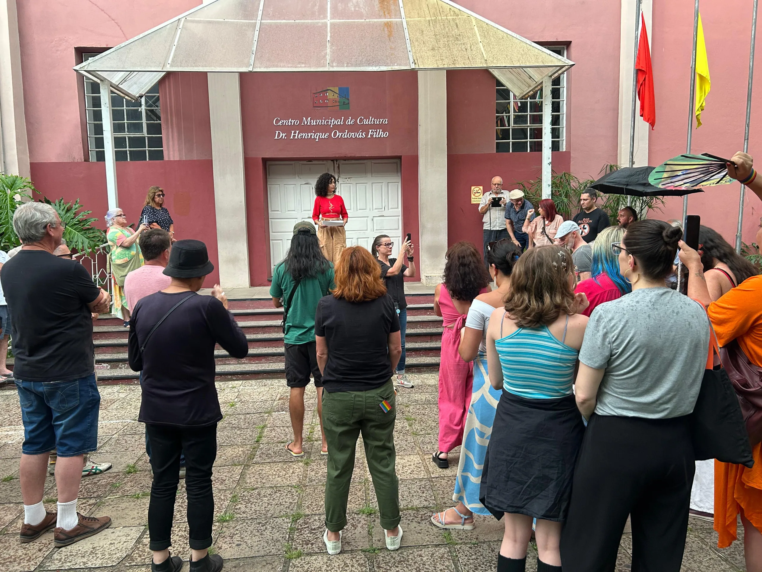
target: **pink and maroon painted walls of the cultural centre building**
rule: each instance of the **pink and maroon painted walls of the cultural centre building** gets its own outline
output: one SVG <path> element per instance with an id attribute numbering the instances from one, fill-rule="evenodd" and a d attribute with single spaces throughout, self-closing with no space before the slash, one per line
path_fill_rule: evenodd
<path id="1" fill-rule="evenodd" d="M 85 54 L 114 47 L 197 2 L 6 0 L 6 5 L 6 18 L 0 19 L 5 172 L 30 176 L 49 198 L 79 198 L 102 219 L 107 210 L 104 162 L 91 160 L 97 156 L 93 137 L 88 138 L 88 88 L 72 67 Z M 559 114 L 553 135 L 555 172 L 596 178 L 603 165 L 626 164 L 635 20 L 632 0 L 461 0 L 461 5 L 575 62 L 559 86 L 558 105 L 554 103 L 553 111 Z M 642 6 L 652 42 L 657 119 L 655 130 L 647 130 L 637 120 L 636 165 L 658 165 L 684 153 L 686 147 L 693 2 L 648 0 Z M 751 2 L 706 2 L 701 14 L 712 91 L 703 126 L 693 132 L 693 152 L 731 156 L 743 143 Z M 284 41 L 293 42 L 298 52 L 298 38 Z M 321 108 L 331 95 L 324 92 L 330 86 L 347 90 L 348 110 Z M 494 175 L 501 175 L 506 188 L 540 175 L 541 153 L 533 144 L 533 104 L 527 103 L 527 119 L 518 117 L 524 108 L 514 108 L 515 129 L 496 131 L 500 121 L 496 109 L 501 108 L 496 101 L 501 96 L 488 71 L 448 71 L 446 91 L 447 111 L 440 118 L 447 124 L 447 188 L 440 189 L 440 214 L 446 211 L 447 223 L 442 239 L 448 244 L 467 239 L 480 245 L 482 223 L 470 200 L 471 187 L 482 185 L 486 190 Z M 757 89 L 749 144 L 753 156 L 762 153 L 762 143 L 755 137 L 762 113 L 760 97 Z M 416 72 L 242 74 L 240 99 L 247 215 L 246 236 L 240 239 L 248 248 L 249 284 L 267 284 L 272 265 L 287 245 L 280 226 L 299 217 L 298 212 L 287 216 L 284 205 L 292 196 L 307 204 L 309 192 L 304 185 L 325 169 L 336 172 L 340 182 L 347 181 L 347 192 L 356 193 L 353 208 L 361 214 L 357 220 L 370 221 L 368 228 L 360 228 L 358 222 L 356 243 L 364 244 L 368 236 L 384 231 L 397 238 L 409 232 L 418 244 L 421 219 L 437 214 L 421 212 L 418 195 L 421 141 Z M 158 85 L 158 101 L 162 159 L 153 153 L 156 160 L 117 162 L 119 205 L 128 220 L 136 222 L 148 187 L 165 188 L 176 237 L 202 239 L 217 264 L 220 229 L 215 215 L 207 75 L 165 76 Z M 304 125 L 305 117 L 351 118 L 355 130 L 364 130 L 367 137 L 351 137 L 347 124 L 331 129 Z M 382 122 L 375 124 L 370 118 Z M 363 127 L 358 121 L 365 122 Z M 527 121 L 525 128 L 522 121 Z M 347 136 L 342 137 L 345 130 Z M 295 131 L 331 135 L 315 139 Z M 703 223 L 735 243 L 738 197 L 739 185 L 694 194 L 689 213 L 700 214 Z M 366 199 L 370 204 L 363 202 Z M 285 202 L 280 204 L 281 200 Z M 382 220 L 383 213 L 373 210 L 388 216 Z M 681 212 L 681 199 L 669 199 L 664 211 L 652 216 L 680 218 Z M 760 202 L 752 194 L 745 205 L 744 242 L 754 241 L 760 214 Z M 348 235 L 351 231 L 355 232 L 347 227 Z M 208 282 L 217 280 L 216 273 Z"/>

